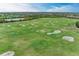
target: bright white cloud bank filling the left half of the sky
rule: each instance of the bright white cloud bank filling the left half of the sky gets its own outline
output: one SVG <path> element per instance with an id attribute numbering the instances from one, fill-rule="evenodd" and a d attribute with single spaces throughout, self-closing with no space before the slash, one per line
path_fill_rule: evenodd
<path id="1" fill-rule="evenodd" d="M 9 3 L 0 4 L 0 12 L 39 12 L 39 9 L 34 8 L 31 4 Z"/>

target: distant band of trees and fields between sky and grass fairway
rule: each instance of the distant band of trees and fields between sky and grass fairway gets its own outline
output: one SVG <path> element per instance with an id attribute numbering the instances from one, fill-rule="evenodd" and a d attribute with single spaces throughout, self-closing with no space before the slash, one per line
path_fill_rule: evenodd
<path id="1" fill-rule="evenodd" d="M 15 13 L 0 13 L 0 23 L 16 22 L 33 20 L 37 18 L 75 18 L 79 19 L 78 13 L 57 13 L 57 12 L 15 12 Z M 20 20 L 7 21 L 5 19 L 23 18 Z"/>

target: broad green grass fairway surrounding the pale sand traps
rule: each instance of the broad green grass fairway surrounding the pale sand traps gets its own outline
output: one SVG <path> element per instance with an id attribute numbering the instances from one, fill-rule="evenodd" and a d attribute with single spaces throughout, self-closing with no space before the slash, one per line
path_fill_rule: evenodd
<path id="1" fill-rule="evenodd" d="M 79 29 L 75 27 L 78 19 L 40 18 L 30 21 L 0 23 L 0 54 L 15 51 L 17 56 L 59 56 L 79 55 Z M 61 30 L 62 33 L 47 35 Z M 63 40 L 72 36 L 74 42 Z"/>

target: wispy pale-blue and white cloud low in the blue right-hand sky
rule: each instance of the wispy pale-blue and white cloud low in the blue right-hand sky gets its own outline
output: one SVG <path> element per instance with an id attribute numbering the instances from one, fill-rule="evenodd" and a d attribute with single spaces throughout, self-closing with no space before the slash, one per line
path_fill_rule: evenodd
<path id="1" fill-rule="evenodd" d="M 47 12 L 73 12 L 73 11 L 74 11 L 74 7 L 71 5 L 65 5 L 60 7 L 54 6 L 47 10 Z"/>

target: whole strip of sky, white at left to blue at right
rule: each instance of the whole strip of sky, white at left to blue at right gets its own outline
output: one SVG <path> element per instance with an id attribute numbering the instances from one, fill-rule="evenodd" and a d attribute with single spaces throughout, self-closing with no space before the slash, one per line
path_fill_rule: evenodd
<path id="1" fill-rule="evenodd" d="M 0 3 L 0 12 L 79 12 L 79 3 Z"/>

